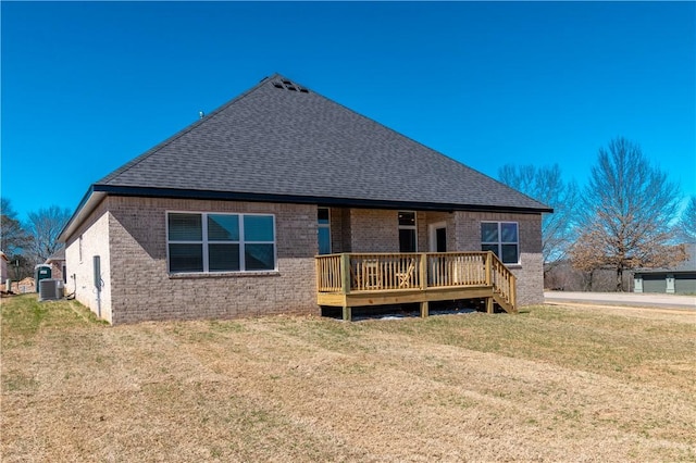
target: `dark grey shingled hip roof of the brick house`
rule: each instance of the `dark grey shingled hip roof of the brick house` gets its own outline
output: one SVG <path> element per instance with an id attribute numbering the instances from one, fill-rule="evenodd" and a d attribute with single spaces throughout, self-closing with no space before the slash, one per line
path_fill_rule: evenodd
<path id="1" fill-rule="evenodd" d="M 145 196 L 549 211 L 277 74 L 92 188 Z"/>

